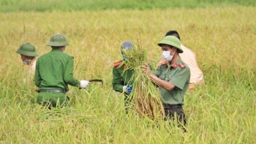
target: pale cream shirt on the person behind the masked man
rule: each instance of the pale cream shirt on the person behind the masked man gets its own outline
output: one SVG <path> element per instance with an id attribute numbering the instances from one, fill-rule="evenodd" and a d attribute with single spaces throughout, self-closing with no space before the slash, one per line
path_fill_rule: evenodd
<path id="1" fill-rule="evenodd" d="M 197 60 L 195 58 L 195 53 L 184 45 L 181 45 L 183 53 L 178 53 L 182 61 L 184 61 L 190 69 L 190 80 L 189 83 L 197 83 L 203 80 L 203 72 L 199 69 L 197 65 Z"/>

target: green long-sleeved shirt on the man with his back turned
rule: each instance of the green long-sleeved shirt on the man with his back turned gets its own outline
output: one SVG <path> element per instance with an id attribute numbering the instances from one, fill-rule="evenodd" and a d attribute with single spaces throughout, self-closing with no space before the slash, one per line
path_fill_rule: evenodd
<path id="1" fill-rule="evenodd" d="M 39 89 L 69 91 L 68 84 L 80 86 L 80 82 L 73 77 L 73 69 L 73 57 L 59 49 L 53 49 L 37 59 L 35 85 Z"/>

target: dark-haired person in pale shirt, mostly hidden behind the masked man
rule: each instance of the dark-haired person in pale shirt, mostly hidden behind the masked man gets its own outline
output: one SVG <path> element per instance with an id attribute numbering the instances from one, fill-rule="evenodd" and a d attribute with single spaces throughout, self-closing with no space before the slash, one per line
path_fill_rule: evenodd
<path id="1" fill-rule="evenodd" d="M 165 37 L 166 36 L 175 36 L 180 39 L 177 31 L 168 31 L 165 34 Z M 183 53 L 179 53 L 179 56 L 181 56 L 182 61 L 184 61 L 189 66 L 191 72 L 189 80 L 189 90 L 195 89 L 195 86 L 204 85 L 205 82 L 203 80 L 203 72 L 197 65 L 195 53 L 189 48 L 186 48 L 184 45 L 181 45 L 181 48 L 183 50 Z"/>

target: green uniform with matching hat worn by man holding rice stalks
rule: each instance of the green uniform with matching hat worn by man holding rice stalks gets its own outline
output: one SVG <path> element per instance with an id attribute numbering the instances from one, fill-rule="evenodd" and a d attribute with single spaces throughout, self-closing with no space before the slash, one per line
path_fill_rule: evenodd
<path id="1" fill-rule="evenodd" d="M 170 45 L 177 48 L 178 53 L 183 53 L 181 49 L 181 42 L 177 37 L 167 36 L 161 42 L 158 43 L 161 47 L 162 45 Z M 159 87 L 160 94 L 162 96 L 162 104 L 165 109 L 165 115 L 171 119 L 175 118 L 175 115 L 178 116 L 178 121 L 186 124 L 186 116 L 183 110 L 184 96 L 189 87 L 190 79 L 190 69 L 185 64 L 181 58 L 178 58 L 173 65 L 170 67 L 170 61 L 167 64 L 162 64 L 155 72 L 154 75 L 159 77 L 161 80 L 172 83 L 175 87 L 167 91 L 165 88 Z"/>

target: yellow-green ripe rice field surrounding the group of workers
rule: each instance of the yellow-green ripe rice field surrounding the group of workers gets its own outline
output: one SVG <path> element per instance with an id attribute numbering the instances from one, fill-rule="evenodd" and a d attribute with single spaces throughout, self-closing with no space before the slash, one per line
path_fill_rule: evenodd
<path id="1" fill-rule="evenodd" d="M 240 6 L 0 13 L 0 143 L 255 143 L 255 11 Z M 206 81 L 185 96 L 187 133 L 165 121 L 126 115 L 123 94 L 111 86 L 124 41 L 140 39 L 157 64 L 157 42 L 170 29 L 195 52 Z M 27 67 L 15 50 L 31 42 L 42 56 L 56 32 L 70 43 L 65 52 L 75 57 L 75 77 L 105 83 L 70 87 L 72 106 L 49 111 L 35 103 L 34 85 L 23 83 Z"/>

